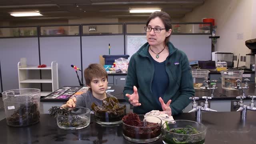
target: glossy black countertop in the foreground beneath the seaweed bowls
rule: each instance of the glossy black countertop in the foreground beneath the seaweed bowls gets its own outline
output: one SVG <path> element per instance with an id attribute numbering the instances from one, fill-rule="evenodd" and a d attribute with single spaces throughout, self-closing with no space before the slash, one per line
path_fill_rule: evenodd
<path id="1" fill-rule="evenodd" d="M 242 119 L 240 112 L 203 112 L 201 123 L 207 126 L 205 144 L 255 144 L 256 112 Z M 174 116 L 175 120 L 196 121 L 194 113 Z M 100 126 L 91 115 L 91 123 L 80 130 L 62 130 L 56 119 L 41 114 L 40 122 L 29 127 L 7 126 L 0 121 L 1 144 L 132 144 L 122 135 L 122 124 Z M 150 144 L 162 144 L 162 138 Z"/>

